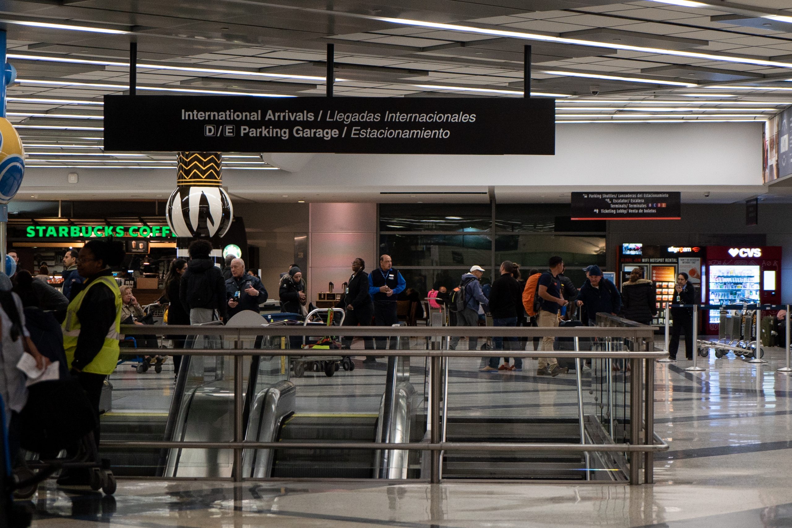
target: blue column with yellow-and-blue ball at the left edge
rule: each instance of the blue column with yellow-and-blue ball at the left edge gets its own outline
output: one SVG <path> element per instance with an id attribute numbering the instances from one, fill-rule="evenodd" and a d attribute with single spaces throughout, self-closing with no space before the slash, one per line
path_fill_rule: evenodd
<path id="1" fill-rule="evenodd" d="M 6 62 L 6 32 L 0 31 L 0 255 L 6 255 L 8 202 L 16 196 L 25 175 L 25 149 L 22 140 L 6 119 L 6 86 L 17 77 L 17 70 Z"/>

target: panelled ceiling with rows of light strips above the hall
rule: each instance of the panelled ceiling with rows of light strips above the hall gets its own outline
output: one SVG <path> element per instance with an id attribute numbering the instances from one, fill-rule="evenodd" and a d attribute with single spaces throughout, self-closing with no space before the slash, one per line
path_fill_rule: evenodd
<path id="1" fill-rule="evenodd" d="M 101 148 L 101 97 L 128 92 L 136 40 L 141 96 L 324 96 L 334 43 L 336 96 L 520 97 L 531 44 L 532 95 L 557 97 L 558 123 L 763 121 L 792 102 L 792 10 L 777 3 L 11 2 L 8 118 L 32 167 L 173 166 Z"/>

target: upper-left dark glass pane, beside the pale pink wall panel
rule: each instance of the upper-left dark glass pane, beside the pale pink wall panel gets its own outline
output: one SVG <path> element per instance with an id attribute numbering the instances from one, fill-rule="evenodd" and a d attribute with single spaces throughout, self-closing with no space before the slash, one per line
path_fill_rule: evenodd
<path id="1" fill-rule="evenodd" d="M 489 204 L 403 204 L 379 206 L 379 230 L 386 231 L 489 231 Z"/>

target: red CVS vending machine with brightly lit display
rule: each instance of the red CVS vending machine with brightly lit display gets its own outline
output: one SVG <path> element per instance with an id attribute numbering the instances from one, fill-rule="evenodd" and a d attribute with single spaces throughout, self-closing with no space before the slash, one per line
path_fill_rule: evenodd
<path id="1" fill-rule="evenodd" d="M 705 298 L 722 304 L 780 304 L 781 247 L 707 247 Z M 706 331 L 718 332 L 720 312 L 710 309 Z"/>

